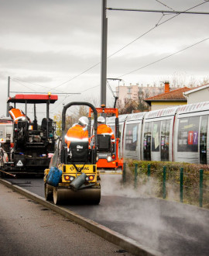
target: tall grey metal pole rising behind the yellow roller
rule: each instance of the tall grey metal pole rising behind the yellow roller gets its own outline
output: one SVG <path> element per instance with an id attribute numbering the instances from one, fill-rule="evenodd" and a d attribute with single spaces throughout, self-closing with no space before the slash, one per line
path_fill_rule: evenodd
<path id="1" fill-rule="evenodd" d="M 101 6 L 101 104 L 106 105 L 106 80 L 107 80 L 107 41 L 108 18 L 106 18 L 107 1 L 102 0 Z"/>

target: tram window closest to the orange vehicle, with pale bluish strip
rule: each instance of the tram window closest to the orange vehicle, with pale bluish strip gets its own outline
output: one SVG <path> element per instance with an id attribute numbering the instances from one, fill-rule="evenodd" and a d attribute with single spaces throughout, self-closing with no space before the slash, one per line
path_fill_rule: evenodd
<path id="1" fill-rule="evenodd" d="M 135 151 L 138 140 L 138 123 L 131 123 L 126 126 L 125 133 L 125 150 Z"/>

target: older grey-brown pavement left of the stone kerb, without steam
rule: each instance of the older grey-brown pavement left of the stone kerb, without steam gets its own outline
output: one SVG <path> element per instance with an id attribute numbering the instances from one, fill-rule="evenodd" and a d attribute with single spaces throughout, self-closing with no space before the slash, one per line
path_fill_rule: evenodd
<path id="1" fill-rule="evenodd" d="M 0 254 L 131 255 L 0 184 Z"/>

